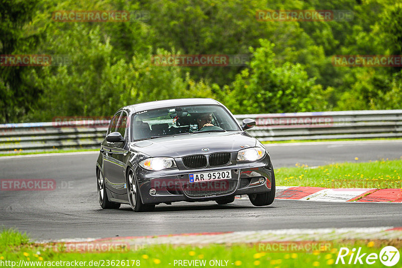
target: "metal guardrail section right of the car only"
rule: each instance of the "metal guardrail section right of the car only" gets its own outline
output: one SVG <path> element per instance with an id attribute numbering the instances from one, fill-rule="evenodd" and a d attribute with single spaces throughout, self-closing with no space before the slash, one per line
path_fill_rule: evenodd
<path id="1" fill-rule="evenodd" d="M 253 118 L 260 141 L 402 137 L 402 110 L 361 110 L 236 115 Z"/>

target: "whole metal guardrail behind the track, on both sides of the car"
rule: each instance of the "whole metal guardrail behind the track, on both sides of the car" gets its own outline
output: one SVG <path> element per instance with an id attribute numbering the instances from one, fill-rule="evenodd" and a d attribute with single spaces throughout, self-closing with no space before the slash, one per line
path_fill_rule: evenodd
<path id="1" fill-rule="evenodd" d="M 328 111 L 235 115 L 255 119 L 247 130 L 260 141 L 402 137 L 402 110 Z M 0 153 L 97 149 L 107 120 L 0 124 Z"/>

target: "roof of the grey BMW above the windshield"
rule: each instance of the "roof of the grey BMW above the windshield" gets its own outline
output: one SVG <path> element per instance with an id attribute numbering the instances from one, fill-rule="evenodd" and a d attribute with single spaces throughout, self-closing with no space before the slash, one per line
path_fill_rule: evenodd
<path id="1" fill-rule="evenodd" d="M 166 99 L 166 100 L 143 102 L 125 106 L 120 110 L 126 109 L 131 110 L 132 112 L 139 112 L 163 107 L 182 106 L 182 105 L 202 105 L 202 104 L 221 105 L 221 103 L 212 98 L 186 98 L 186 99 Z"/>

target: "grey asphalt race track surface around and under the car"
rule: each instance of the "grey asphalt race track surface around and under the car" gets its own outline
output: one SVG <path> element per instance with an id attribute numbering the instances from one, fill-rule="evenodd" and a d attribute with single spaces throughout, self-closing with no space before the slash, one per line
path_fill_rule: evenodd
<path id="1" fill-rule="evenodd" d="M 275 168 L 295 163 L 317 166 L 336 162 L 400 159 L 402 141 L 269 145 Z M 54 179 L 54 191 L 0 191 L 0 225 L 26 231 L 34 239 L 142 236 L 173 233 L 247 231 L 284 228 L 402 226 L 401 204 L 326 203 L 275 200 L 254 207 L 236 199 L 158 205 L 135 213 L 128 205 L 103 210 L 97 202 L 97 154 L 0 158 L 0 179 Z"/>

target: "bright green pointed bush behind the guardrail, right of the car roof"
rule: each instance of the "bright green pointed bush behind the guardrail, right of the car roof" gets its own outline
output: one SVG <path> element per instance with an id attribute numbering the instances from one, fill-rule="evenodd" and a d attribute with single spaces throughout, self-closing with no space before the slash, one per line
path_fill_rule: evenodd
<path id="1" fill-rule="evenodd" d="M 240 113 L 322 109 L 317 102 L 312 102 L 321 88 L 308 77 L 303 66 L 289 62 L 276 66 L 274 44 L 260 40 L 260 45 L 255 50 L 250 48 L 253 53 L 250 69 L 236 76 L 225 103 Z"/>

